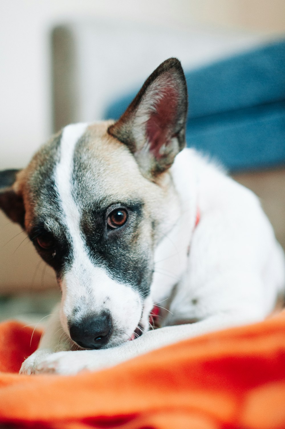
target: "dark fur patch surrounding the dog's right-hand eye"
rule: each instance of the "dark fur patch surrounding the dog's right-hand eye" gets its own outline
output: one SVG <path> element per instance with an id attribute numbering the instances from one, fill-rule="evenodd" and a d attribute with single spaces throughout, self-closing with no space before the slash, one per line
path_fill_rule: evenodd
<path id="1" fill-rule="evenodd" d="M 115 206 L 127 209 L 128 220 L 122 227 L 110 230 L 106 218 Z M 113 280 L 130 284 L 145 294 L 151 282 L 152 261 L 151 249 L 141 250 L 142 207 L 143 203 L 138 201 L 116 202 L 111 206 L 98 202 L 92 210 L 83 211 L 81 229 L 91 260 L 102 264 Z"/>

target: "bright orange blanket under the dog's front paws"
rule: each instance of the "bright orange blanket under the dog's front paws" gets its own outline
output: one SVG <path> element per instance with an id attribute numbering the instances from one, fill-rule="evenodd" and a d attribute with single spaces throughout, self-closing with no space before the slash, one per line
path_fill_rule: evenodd
<path id="1" fill-rule="evenodd" d="M 2 423 L 37 429 L 285 428 L 284 312 L 76 376 L 18 375 L 39 341 L 35 332 L 30 346 L 31 332 L 17 322 L 0 324 Z"/>

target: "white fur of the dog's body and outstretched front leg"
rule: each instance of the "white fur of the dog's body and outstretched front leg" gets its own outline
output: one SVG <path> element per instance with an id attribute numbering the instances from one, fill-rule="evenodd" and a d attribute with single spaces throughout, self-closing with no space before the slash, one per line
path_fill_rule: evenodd
<path id="1" fill-rule="evenodd" d="M 257 197 L 194 150 L 183 150 L 171 172 L 181 215 L 155 251 L 151 287 L 151 298 L 158 302 L 168 299 L 176 285 L 164 327 L 106 350 L 49 354 L 43 341 L 44 350 L 30 356 L 22 372 L 97 370 L 185 338 L 262 320 L 272 311 L 284 293 L 284 254 Z M 191 318 L 199 321 L 170 326 Z"/>

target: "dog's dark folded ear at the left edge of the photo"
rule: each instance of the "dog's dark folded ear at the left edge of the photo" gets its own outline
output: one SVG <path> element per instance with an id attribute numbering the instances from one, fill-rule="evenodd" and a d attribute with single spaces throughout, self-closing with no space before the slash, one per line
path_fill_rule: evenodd
<path id="1" fill-rule="evenodd" d="M 0 171 L 0 208 L 13 222 L 17 222 L 24 228 L 24 202 L 12 188 L 18 171 Z"/>

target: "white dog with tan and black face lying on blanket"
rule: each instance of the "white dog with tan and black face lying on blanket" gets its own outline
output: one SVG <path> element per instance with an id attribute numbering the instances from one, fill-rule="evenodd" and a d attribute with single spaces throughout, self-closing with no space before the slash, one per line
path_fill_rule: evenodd
<path id="1" fill-rule="evenodd" d="M 170 58 L 118 121 L 64 127 L 2 189 L 62 292 L 21 373 L 114 366 L 263 320 L 284 295 L 284 254 L 258 198 L 185 148 L 187 107 Z"/>

